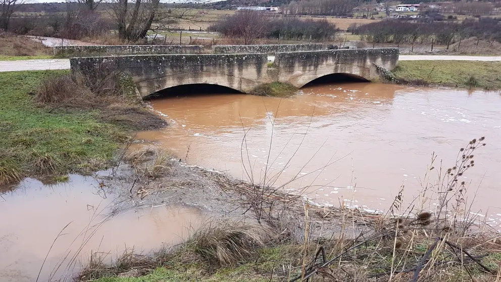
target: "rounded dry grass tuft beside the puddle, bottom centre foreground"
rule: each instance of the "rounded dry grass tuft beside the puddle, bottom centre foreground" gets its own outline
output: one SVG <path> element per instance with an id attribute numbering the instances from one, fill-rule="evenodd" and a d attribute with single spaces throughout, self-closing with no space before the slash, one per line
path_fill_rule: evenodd
<path id="1" fill-rule="evenodd" d="M 185 250 L 209 263 L 235 265 L 256 257 L 257 249 L 264 247 L 272 236 L 271 228 L 226 220 L 211 222 L 195 231 L 185 244 Z"/>

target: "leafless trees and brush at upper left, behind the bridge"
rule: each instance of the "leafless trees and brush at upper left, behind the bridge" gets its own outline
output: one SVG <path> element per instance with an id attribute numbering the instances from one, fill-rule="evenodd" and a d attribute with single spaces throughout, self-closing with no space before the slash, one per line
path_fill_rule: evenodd
<path id="1" fill-rule="evenodd" d="M 193 20 L 190 8 L 167 9 L 160 0 L 68 0 L 64 14 L 42 17 L 13 17 L 24 0 L 0 0 L 0 29 L 20 34 L 57 36 L 70 39 L 99 36 L 117 30 L 122 41 L 144 39 L 148 31 L 163 29 L 173 20 Z M 106 5 L 104 12 L 96 12 Z M 106 14 L 108 13 L 108 14 Z M 9 27 L 9 24 L 11 27 Z"/>

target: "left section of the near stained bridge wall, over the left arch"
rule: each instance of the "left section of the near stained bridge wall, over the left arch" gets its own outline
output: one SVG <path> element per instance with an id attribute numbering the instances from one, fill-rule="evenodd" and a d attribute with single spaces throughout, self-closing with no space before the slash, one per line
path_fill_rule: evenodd
<path id="1" fill-rule="evenodd" d="M 272 82 L 266 54 L 138 55 L 70 59 L 73 72 L 95 74 L 97 66 L 131 75 L 142 97 L 156 91 L 195 83 L 217 84 L 248 92 Z"/>

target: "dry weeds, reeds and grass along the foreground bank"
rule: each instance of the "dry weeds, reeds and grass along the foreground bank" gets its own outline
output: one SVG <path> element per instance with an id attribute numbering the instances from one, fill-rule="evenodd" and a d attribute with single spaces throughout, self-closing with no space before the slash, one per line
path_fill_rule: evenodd
<path id="1" fill-rule="evenodd" d="M 484 137 L 471 140 L 459 150 L 454 166 L 448 169 L 438 167 L 438 160 L 435 168 L 433 158 L 419 197 L 412 203 L 404 202 L 402 187 L 386 214 L 367 213 L 345 205 L 318 207 L 272 187 L 205 171 L 205 177 L 217 184 L 210 190 L 224 190 L 221 195 L 229 197 L 219 200 L 221 205 L 238 202 L 240 206 L 234 210 L 240 216 L 245 214 L 244 220 L 212 219 L 176 247 L 162 248 L 149 256 L 127 250 L 111 264 L 107 263 L 110 258 L 103 255 L 107 252 L 96 251 L 79 279 L 99 282 L 499 279 L 499 233 L 479 222 L 478 216 L 471 212 L 471 202 L 466 197 L 468 183 L 461 181 L 475 165 L 474 155 L 485 145 L 483 142 Z M 178 165 L 177 161 L 171 162 L 171 168 Z M 146 186 L 139 185 L 146 190 L 144 194 L 150 194 L 148 191 L 155 194 L 154 199 L 168 199 L 165 194 L 157 194 L 175 189 L 173 177 L 175 173 L 168 173 Z M 183 179 L 190 178 L 183 176 Z M 189 180 L 182 186 L 183 191 L 191 189 Z M 145 197 L 141 200 L 148 199 Z M 148 206 L 153 204 L 148 202 Z"/>

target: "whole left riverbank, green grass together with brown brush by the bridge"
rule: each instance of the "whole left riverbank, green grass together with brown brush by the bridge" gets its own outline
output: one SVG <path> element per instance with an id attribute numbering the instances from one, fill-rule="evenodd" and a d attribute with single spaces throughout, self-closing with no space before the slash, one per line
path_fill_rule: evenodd
<path id="1" fill-rule="evenodd" d="M 0 85 L 0 186 L 104 169 L 127 131 L 164 122 L 137 103 L 98 99 L 68 71 L 3 72 Z"/>

